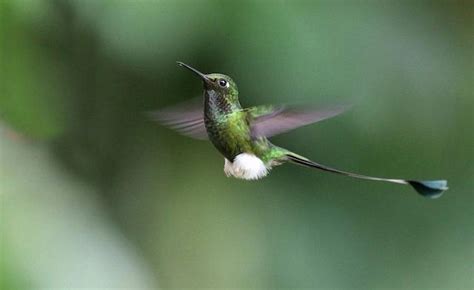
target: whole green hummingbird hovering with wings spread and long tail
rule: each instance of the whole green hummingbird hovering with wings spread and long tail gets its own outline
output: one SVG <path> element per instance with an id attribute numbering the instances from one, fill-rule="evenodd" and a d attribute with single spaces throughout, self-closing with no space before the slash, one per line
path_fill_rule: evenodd
<path id="1" fill-rule="evenodd" d="M 430 198 L 439 197 L 448 189 L 446 180 L 417 181 L 360 175 L 321 165 L 278 147 L 268 138 L 334 117 L 346 108 L 314 110 L 273 105 L 242 108 L 237 85 L 229 76 L 204 74 L 185 63 L 177 63 L 202 79 L 204 100 L 199 105 L 178 105 L 156 111 L 151 117 L 183 135 L 209 139 L 224 156 L 227 176 L 260 179 L 274 166 L 290 162 L 355 178 L 411 185 L 419 194 Z"/>

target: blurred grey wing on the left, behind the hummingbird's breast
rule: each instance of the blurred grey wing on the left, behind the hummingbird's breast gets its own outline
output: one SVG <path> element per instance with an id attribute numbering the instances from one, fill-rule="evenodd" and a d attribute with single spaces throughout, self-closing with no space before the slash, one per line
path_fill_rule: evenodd
<path id="1" fill-rule="evenodd" d="M 199 140 L 208 139 L 204 125 L 202 98 L 150 112 L 149 116 L 152 120 L 176 130 L 182 135 Z"/>

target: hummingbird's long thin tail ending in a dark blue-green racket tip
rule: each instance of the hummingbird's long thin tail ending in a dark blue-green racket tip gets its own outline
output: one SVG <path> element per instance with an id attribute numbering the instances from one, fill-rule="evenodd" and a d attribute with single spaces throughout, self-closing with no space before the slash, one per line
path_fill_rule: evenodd
<path id="1" fill-rule="evenodd" d="M 306 167 L 317 168 L 324 171 L 342 174 L 350 177 L 367 179 L 367 180 L 376 180 L 376 181 L 386 181 L 391 183 L 398 183 L 398 184 L 408 184 L 411 185 L 419 194 L 424 197 L 429 198 L 438 198 L 440 197 L 445 190 L 448 189 L 448 182 L 446 180 L 406 180 L 406 179 L 390 179 L 390 178 L 380 178 L 380 177 L 372 177 L 366 175 L 360 175 L 356 173 L 346 172 L 342 170 L 337 170 L 325 165 L 321 165 L 314 161 L 311 161 L 303 156 L 300 156 L 295 153 L 287 153 L 286 157 L 292 163 L 296 163 L 299 165 L 303 165 Z"/>

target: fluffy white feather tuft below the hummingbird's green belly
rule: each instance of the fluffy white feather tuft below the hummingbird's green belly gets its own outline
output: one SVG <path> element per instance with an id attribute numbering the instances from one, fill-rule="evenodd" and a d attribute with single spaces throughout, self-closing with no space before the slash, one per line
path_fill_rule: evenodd
<path id="1" fill-rule="evenodd" d="M 225 159 L 224 172 L 227 176 L 241 179 L 259 179 L 268 174 L 269 168 L 257 156 L 250 153 L 237 155 L 234 162 Z"/>

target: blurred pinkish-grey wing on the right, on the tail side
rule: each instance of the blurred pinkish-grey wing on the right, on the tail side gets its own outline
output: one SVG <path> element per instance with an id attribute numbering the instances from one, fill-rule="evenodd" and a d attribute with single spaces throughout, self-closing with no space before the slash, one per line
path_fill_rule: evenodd
<path id="1" fill-rule="evenodd" d="M 253 137 L 271 137 L 301 126 L 316 123 L 346 111 L 350 106 L 327 108 L 257 106 L 248 109 Z"/>

